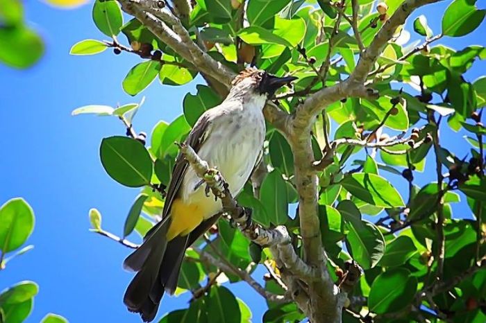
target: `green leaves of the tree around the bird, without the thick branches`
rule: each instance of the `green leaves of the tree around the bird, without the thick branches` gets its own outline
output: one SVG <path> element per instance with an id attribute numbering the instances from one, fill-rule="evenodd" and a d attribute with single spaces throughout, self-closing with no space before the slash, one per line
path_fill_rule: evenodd
<path id="1" fill-rule="evenodd" d="M 370 46 L 378 30 L 386 28 L 396 10 L 402 10 L 401 2 L 386 1 L 386 6 L 378 7 L 384 11 L 377 12 L 374 1 L 359 1 L 354 21 L 353 1 L 250 0 L 245 6 L 239 0 L 198 0 L 189 18 L 181 15 L 181 20 L 192 39 L 232 71 L 253 61 L 278 76 L 297 76 L 292 89 L 277 94 L 280 109 L 292 114 L 301 97 L 336 85 L 353 73 L 360 51 Z M 413 30 L 399 27 L 367 76 L 367 85 L 380 98 L 350 96 L 331 103 L 315 119 L 312 148 L 315 159 L 324 165 L 315 168 L 319 178 L 315 207 L 329 258 L 327 268 L 337 286 L 349 259 L 364 270 L 349 292 L 343 322 L 486 320 L 486 130 L 481 123 L 486 82 L 485 77 L 469 80 L 467 76 L 475 60 L 486 58 L 486 49 L 432 46 L 442 37 L 460 37 L 478 28 L 485 10 L 478 10 L 474 2 L 451 1 L 442 16 L 442 30 L 432 30 L 424 16 L 414 20 Z M 99 6 L 106 8 L 103 15 Z M 72 53 L 90 55 L 112 47 L 115 54 L 139 55 L 142 61 L 123 80 L 130 95 L 140 93 L 157 77 L 163 85 L 177 86 L 201 73 L 140 21 L 124 22 L 123 18 L 115 0 L 97 0 L 94 23 L 113 40 L 85 40 L 75 44 Z M 417 33 L 419 42 L 410 42 L 410 33 Z M 120 43 L 122 39 L 128 46 Z M 212 82 L 198 85 L 195 94 L 185 96 L 182 116 L 171 123 L 157 123 L 147 148 L 144 135 L 132 126 L 139 105 L 116 109 L 90 105 L 74 110 L 73 114 L 116 116 L 131 137 L 103 139 L 100 148 L 108 175 L 125 186 L 143 186 L 128 212 L 124 238 L 133 230 L 144 236 L 158 220 L 178 152 L 174 141 L 182 141 L 197 118 L 222 98 Z M 465 134 L 464 144 L 471 144 L 468 158 L 456 156 L 454 147 L 441 140 L 440 131 L 446 128 L 460 131 L 455 136 Z M 294 154 L 285 136 L 269 123 L 264 155 L 268 173 L 259 193 L 249 183 L 238 202 L 253 209 L 253 220 L 260 225 L 285 225 L 300 255 L 302 236 L 295 207 L 299 165 Z M 423 173 L 426 163 L 434 165 L 433 176 Z M 397 180 L 396 175 L 401 178 Z M 469 213 L 453 214 L 453 205 L 461 199 L 462 204 L 467 200 Z M 99 212 L 92 211 L 90 218 L 94 231 L 103 232 Z M 226 222 L 212 227 L 206 238 L 194 247 L 240 270 L 251 272 L 265 263 L 280 276 L 282 268 L 275 268 L 271 253 L 263 250 L 260 261 L 253 256 L 254 250 L 250 256 L 252 244 Z M 265 289 L 283 294 L 278 281 L 267 278 Z M 194 250 L 187 250 L 177 293 L 192 291 L 194 302 L 168 313 L 160 322 L 206 322 L 209 313 L 221 322 L 248 322 L 249 309 L 221 286 L 227 280 L 241 279 L 234 272 L 222 274 L 215 265 L 201 261 Z M 293 302 L 267 304 L 264 322 L 303 319 Z"/>

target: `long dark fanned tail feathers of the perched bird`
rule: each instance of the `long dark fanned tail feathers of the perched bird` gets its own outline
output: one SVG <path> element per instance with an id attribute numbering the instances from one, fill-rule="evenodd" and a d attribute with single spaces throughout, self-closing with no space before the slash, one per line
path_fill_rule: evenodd
<path id="1" fill-rule="evenodd" d="M 164 220 L 147 232 L 144 243 L 124 261 L 124 268 L 137 272 L 124 295 L 128 311 L 140 313 L 144 322 L 157 314 L 165 290 L 176 290 L 179 271 L 187 248 L 188 236 L 167 241 L 170 220 Z"/>

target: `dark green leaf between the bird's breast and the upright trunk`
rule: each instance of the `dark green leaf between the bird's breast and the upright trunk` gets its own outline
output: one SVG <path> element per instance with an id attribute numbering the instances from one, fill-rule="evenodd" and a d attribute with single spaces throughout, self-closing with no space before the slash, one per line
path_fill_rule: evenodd
<path id="1" fill-rule="evenodd" d="M 290 177 L 294 173 L 294 155 L 289 143 L 280 132 L 275 131 L 269 142 L 271 164 Z"/>

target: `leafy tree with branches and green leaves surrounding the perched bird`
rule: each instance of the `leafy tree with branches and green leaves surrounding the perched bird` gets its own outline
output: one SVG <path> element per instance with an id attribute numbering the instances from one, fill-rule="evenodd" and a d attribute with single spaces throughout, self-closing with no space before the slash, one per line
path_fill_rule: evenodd
<path id="1" fill-rule="evenodd" d="M 478 28 L 486 10 L 454 0 L 440 30 L 424 15 L 405 29 L 435 2 L 94 1 L 99 40 L 81 40 L 72 55 L 139 56 L 121 80 L 131 96 L 156 79 L 204 82 L 181 116 L 154 121 L 148 135 L 136 131 L 143 101 L 72 112 L 115 117 L 126 130 L 99 147 L 106 173 L 140 188 L 122 234 L 103 229 L 97 209 L 89 215 L 93 232 L 126 247 L 160 220 L 174 142 L 239 71 L 299 78 L 267 103 L 262 162 L 233 200 L 251 210 L 251 226 L 228 212 L 187 250 L 176 293 L 191 302 L 159 322 L 250 322 L 237 281 L 266 300 L 263 322 L 486 321 L 486 78 L 467 77 L 486 49 L 440 44 Z M 444 131 L 463 136 L 469 154 L 456 155 Z M 453 212 L 460 203 L 467 214 Z M 0 246 L 1 237 L 0 225 Z M 263 280 L 251 275 L 258 266 Z"/>

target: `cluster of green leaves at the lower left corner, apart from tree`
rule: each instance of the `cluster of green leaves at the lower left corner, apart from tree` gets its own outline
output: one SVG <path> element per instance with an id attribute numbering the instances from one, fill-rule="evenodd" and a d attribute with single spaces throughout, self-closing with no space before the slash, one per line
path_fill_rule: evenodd
<path id="1" fill-rule="evenodd" d="M 22 247 L 34 229 L 34 213 L 23 198 L 12 198 L 0 207 L 0 270 L 17 256 L 33 249 Z M 39 286 L 33 281 L 20 281 L 0 292 L 0 322 L 22 323 L 30 315 Z M 67 323 L 64 317 L 50 313 L 44 323 Z"/>

